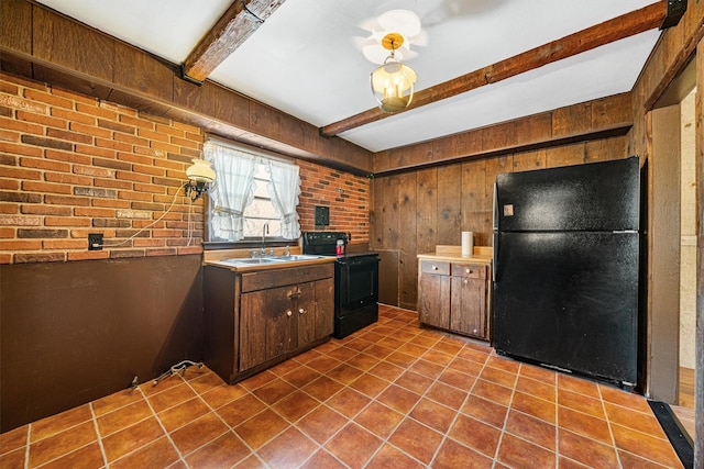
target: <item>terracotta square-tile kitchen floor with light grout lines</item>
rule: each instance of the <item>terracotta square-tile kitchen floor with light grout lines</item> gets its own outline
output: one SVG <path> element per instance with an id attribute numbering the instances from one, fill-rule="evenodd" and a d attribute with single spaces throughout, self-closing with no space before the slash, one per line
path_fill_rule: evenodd
<path id="1" fill-rule="evenodd" d="M 191 367 L 2 434 L 0 467 L 681 467 L 641 397 L 380 313 L 235 386 Z"/>

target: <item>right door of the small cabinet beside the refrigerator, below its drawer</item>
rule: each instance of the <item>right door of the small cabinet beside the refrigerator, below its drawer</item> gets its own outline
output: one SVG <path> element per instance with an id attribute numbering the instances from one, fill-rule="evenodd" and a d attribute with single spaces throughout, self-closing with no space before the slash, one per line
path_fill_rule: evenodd
<path id="1" fill-rule="evenodd" d="M 486 338 L 486 286 L 483 278 L 452 277 L 450 330 Z"/>

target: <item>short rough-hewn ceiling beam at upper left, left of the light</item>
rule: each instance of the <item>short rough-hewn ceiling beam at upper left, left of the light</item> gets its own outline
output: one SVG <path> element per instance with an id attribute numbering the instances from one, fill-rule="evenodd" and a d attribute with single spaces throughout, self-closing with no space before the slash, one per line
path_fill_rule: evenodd
<path id="1" fill-rule="evenodd" d="M 286 0 L 234 0 L 188 54 L 182 78 L 202 83 Z"/>

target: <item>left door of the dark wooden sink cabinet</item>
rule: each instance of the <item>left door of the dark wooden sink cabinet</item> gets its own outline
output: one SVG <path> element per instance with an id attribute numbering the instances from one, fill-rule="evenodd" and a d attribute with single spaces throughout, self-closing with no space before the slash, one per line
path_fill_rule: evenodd
<path id="1" fill-rule="evenodd" d="M 240 317 L 240 370 L 246 370 L 296 348 L 295 299 L 282 287 L 243 293 Z"/>

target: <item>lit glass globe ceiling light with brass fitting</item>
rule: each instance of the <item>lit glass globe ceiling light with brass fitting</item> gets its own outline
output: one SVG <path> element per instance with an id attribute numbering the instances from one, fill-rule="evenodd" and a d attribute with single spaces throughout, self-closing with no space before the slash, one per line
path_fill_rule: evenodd
<path id="1" fill-rule="evenodd" d="M 378 107 L 385 112 L 398 112 L 406 109 L 414 98 L 416 72 L 413 68 L 402 64 L 394 51 L 404 44 L 404 36 L 399 33 L 388 33 L 382 40 L 385 49 L 391 51 L 384 64 L 370 76 L 372 92 Z"/>

